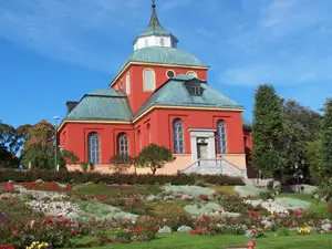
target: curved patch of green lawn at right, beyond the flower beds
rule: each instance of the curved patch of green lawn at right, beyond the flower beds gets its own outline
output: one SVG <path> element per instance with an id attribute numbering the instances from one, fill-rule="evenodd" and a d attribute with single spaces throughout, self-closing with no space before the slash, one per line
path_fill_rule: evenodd
<path id="1" fill-rule="evenodd" d="M 328 206 L 326 203 L 321 201 L 319 199 L 312 198 L 310 195 L 307 194 L 281 194 L 278 197 L 287 197 L 287 198 L 293 198 L 293 199 L 301 199 L 310 203 L 309 210 L 314 214 L 319 214 L 322 217 L 328 217 Z M 332 247 L 331 247 L 332 248 Z"/>

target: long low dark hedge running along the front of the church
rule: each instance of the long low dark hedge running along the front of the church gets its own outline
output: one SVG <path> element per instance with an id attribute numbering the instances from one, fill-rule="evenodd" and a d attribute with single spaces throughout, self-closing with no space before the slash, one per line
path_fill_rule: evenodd
<path id="1" fill-rule="evenodd" d="M 239 177 L 226 175 L 134 175 L 134 174 L 100 174 L 82 172 L 54 172 L 45 169 L 17 170 L 0 169 L 0 183 L 12 180 L 14 183 L 34 181 L 59 181 L 70 184 L 104 183 L 104 184 L 128 184 L 128 185 L 195 185 L 208 183 L 215 185 L 243 185 Z"/>

